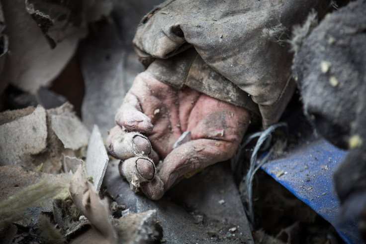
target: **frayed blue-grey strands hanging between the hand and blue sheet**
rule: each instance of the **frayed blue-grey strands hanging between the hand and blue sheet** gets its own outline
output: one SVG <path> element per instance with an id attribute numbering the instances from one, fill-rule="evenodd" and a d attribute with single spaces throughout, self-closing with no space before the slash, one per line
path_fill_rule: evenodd
<path id="1" fill-rule="evenodd" d="M 287 129 L 287 123 L 285 122 L 276 123 L 268 127 L 265 131 L 256 132 L 246 136 L 232 161 L 232 166 L 236 166 L 239 163 L 239 159 L 243 156 L 244 148 L 253 139 L 258 138 L 250 158 L 250 166 L 245 178 L 245 195 L 247 202 L 246 212 L 247 215 L 249 216 L 251 223 L 254 223 L 253 199 L 252 199 L 252 186 L 253 186 L 254 175 L 258 171 L 258 169 L 262 167 L 267 162 L 267 160 L 273 155 L 273 152 L 275 151 L 275 146 L 271 147 L 271 149 L 268 152 L 265 152 L 265 156 L 260 160 L 257 160 L 258 153 L 260 150 L 265 151 L 270 147 L 272 141 L 272 133 L 275 131 L 275 129 L 279 127 L 285 127 Z"/>

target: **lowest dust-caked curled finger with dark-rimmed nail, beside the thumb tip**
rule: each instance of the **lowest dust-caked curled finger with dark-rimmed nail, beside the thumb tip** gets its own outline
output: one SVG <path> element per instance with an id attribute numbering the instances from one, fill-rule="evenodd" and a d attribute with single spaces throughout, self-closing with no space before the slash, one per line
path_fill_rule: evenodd
<path id="1" fill-rule="evenodd" d="M 148 183 L 155 178 L 156 168 L 148 157 L 132 157 L 121 161 L 118 165 L 119 173 L 130 183 L 131 190 L 138 192 L 141 184 Z"/>

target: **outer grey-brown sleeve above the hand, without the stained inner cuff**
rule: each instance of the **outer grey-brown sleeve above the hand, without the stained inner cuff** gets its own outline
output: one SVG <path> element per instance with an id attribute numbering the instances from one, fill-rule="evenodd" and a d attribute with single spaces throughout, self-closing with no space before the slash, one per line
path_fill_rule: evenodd
<path id="1" fill-rule="evenodd" d="M 294 85 L 288 84 L 293 82 L 292 55 L 285 42 L 292 25 L 301 23 L 312 8 L 322 13 L 329 4 L 329 0 L 169 0 L 142 19 L 133 44 L 145 65 L 193 46 L 214 71 L 251 95 L 267 127 L 279 118 L 267 113 L 281 114 L 293 93 Z"/>

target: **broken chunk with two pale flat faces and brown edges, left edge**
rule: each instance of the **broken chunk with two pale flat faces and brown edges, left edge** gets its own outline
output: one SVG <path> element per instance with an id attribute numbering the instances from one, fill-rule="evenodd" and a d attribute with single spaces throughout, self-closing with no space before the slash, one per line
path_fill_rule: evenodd
<path id="1" fill-rule="evenodd" d="M 5 111 L 0 114 L 0 165 L 22 165 L 59 173 L 64 156 L 76 156 L 90 132 L 66 103 L 56 109 Z"/>

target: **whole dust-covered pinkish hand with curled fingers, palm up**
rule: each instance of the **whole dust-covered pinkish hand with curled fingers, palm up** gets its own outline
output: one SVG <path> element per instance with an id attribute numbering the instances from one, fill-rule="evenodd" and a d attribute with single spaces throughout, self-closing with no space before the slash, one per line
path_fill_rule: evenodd
<path id="1" fill-rule="evenodd" d="M 122 159 L 119 170 L 132 189 L 157 200 L 185 174 L 232 157 L 250 114 L 144 72 L 136 77 L 115 121 L 107 138 L 109 153 Z M 191 131 L 191 140 L 173 149 L 184 131 Z"/>

